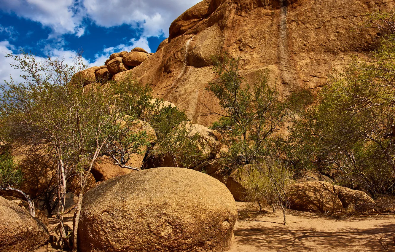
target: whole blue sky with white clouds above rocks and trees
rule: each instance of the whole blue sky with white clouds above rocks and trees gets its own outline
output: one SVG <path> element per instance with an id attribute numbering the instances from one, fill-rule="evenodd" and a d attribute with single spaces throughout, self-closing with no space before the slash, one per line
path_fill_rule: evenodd
<path id="1" fill-rule="evenodd" d="M 155 52 L 169 26 L 200 0 L 0 0 L 0 81 L 19 76 L 7 53 L 21 48 L 71 60 L 83 49 L 90 66 L 111 53 Z"/>

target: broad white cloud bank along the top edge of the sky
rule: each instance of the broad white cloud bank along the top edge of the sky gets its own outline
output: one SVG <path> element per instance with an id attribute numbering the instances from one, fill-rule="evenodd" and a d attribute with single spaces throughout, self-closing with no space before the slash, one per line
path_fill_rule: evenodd
<path id="1" fill-rule="evenodd" d="M 14 12 L 50 27 L 55 38 L 84 34 L 83 19 L 112 27 L 130 24 L 143 29 L 142 36 L 169 35 L 169 26 L 182 12 L 201 0 L 6 0 L 0 9 Z"/>

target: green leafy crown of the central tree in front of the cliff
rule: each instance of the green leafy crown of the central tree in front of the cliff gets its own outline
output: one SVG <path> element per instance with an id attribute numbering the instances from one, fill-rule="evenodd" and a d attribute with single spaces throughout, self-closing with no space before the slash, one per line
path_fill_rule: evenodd
<path id="1" fill-rule="evenodd" d="M 270 85 L 269 70 L 257 71 L 247 81 L 241 77 L 239 59 L 222 54 L 214 56 L 213 62 L 219 81 L 209 83 L 206 89 L 214 93 L 226 114 L 210 110 L 210 114 L 221 116 L 212 128 L 231 140 L 230 156 L 242 156 L 245 163 L 270 154 L 267 150 L 282 145 L 278 132 L 311 100 L 310 93 L 302 91 L 281 101 L 276 81 Z"/>

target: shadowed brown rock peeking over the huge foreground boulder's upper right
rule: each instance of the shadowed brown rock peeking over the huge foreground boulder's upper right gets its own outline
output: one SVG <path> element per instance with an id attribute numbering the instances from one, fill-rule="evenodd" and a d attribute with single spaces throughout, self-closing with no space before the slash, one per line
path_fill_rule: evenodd
<path id="1" fill-rule="evenodd" d="M 224 184 L 228 182 L 233 171 L 232 165 L 224 158 L 208 160 L 196 166 L 194 170 L 206 173 Z"/>

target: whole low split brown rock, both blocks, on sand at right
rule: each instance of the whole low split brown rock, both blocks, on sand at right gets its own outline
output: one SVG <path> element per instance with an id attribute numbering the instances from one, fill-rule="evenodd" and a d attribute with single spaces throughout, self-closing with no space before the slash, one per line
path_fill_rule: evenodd
<path id="1" fill-rule="evenodd" d="M 322 213 L 339 212 L 350 207 L 366 210 L 374 204 L 364 192 L 324 181 L 292 184 L 288 187 L 287 197 L 291 209 Z"/>

